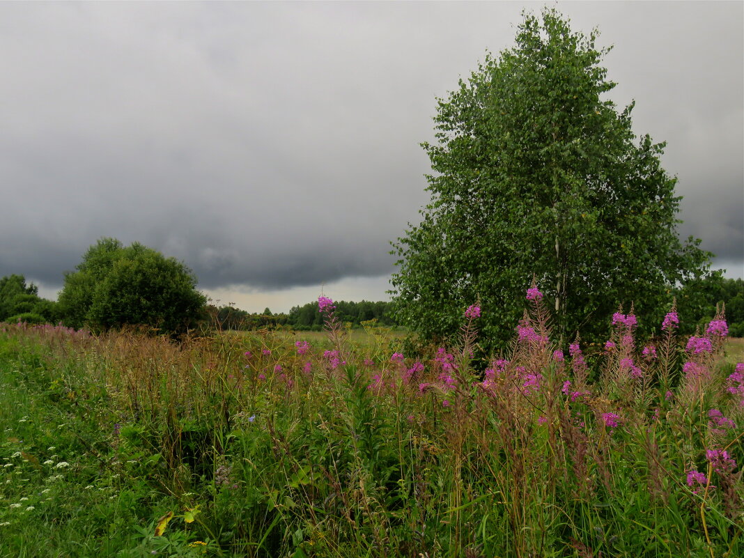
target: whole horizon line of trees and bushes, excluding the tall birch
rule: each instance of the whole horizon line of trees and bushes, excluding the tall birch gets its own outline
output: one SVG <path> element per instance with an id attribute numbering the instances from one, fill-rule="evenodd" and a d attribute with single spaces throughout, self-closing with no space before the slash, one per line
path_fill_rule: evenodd
<path id="1" fill-rule="evenodd" d="M 725 306 L 729 334 L 744 337 L 744 280 L 724 278 L 716 271 L 689 280 L 670 292 L 676 299 L 680 333 L 690 335 Z M 363 322 L 400 324 L 390 302 L 337 301 L 339 321 L 360 327 Z M 184 263 L 138 243 L 123 246 L 103 238 L 91 246 L 74 272 L 64 275 L 57 301 L 39 297 L 39 289 L 24 275 L 0 278 L 0 322 L 58 324 L 94 332 L 144 326 L 153 333 L 180 335 L 196 329 L 255 330 L 290 327 L 321 330 L 323 315 L 316 301 L 292 307 L 288 313 L 247 312 L 217 307 L 196 290 L 196 277 Z M 516 324 L 511 324 L 515 327 Z M 647 324 L 658 330 L 659 324 Z"/>

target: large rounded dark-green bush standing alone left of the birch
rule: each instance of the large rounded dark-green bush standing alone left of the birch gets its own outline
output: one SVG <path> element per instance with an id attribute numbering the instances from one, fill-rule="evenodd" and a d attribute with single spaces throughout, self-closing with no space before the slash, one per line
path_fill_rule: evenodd
<path id="1" fill-rule="evenodd" d="M 141 324 L 182 333 L 196 324 L 205 305 L 187 266 L 139 243 L 125 248 L 116 239 L 103 238 L 76 269 L 65 274 L 59 300 L 71 327 L 106 330 Z"/>

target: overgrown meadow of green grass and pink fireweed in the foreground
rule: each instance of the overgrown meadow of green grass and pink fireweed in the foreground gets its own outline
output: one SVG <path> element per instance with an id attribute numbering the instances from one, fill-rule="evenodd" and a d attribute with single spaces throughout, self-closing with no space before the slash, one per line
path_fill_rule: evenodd
<path id="1" fill-rule="evenodd" d="M 744 340 L 0 325 L 0 557 L 744 556 Z"/>

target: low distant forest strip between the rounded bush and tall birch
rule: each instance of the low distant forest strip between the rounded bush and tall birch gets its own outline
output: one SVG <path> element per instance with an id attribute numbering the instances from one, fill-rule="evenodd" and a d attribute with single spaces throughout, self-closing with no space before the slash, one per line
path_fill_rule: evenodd
<path id="1" fill-rule="evenodd" d="M 396 326 L 391 316 L 389 302 L 347 302 L 337 301 L 336 317 L 342 323 L 350 323 L 352 327 L 362 327 L 362 322 L 376 320 L 384 326 Z M 208 307 L 214 325 L 222 330 L 254 330 L 260 327 L 286 326 L 293 330 L 316 330 L 323 328 L 323 315 L 318 312 L 318 302 L 308 302 L 303 306 L 292 307 L 289 313 L 274 314 L 269 308 L 260 314 L 249 313 L 246 310 L 231 306 Z"/>

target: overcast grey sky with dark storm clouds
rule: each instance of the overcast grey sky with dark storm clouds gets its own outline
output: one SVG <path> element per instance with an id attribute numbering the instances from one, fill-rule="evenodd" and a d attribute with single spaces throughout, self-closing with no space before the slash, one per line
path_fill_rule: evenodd
<path id="1" fill-rule="evenodd" d="M 0 276 L 56 298 L 101 237 L 248 312 L 387 300 L 437 97 L 542 2 L 1 2 Z M 744 2 L 548 4 L 614 45 L 681 237 L 744 277 Z"/>

